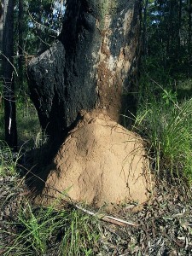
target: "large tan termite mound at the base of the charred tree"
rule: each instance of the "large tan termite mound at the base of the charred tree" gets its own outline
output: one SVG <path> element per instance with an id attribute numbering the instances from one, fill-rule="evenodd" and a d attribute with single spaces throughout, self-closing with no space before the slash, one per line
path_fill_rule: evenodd
<path id="1" fill-rule="evenodd" d="M 143 141 L 106 114 L 85 113 L 61 145 L 54 166 L 42 195 L 55 197 L 60 195 L 55 189 L 67 191 L 73 201 L 95 207 L 148 200 Z M 41 200 L 48 203 L 42 195 Z"/>

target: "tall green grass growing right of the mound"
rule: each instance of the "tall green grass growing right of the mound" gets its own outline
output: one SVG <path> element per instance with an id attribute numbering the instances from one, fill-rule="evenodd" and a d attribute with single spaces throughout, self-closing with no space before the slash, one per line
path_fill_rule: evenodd
<path id="1" fill-rule="evenodd" d="M 191 183 L 192 99 L 178 103 L 176 92 L 158 85 L 159 94 L 147 88 L 140 97 L 135 129 L 147 140 L 160 175 L 166 172 Z"/>

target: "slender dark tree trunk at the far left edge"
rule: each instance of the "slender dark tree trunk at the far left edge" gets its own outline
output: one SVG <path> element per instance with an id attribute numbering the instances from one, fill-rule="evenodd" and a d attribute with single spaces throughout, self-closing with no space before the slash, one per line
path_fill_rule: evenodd
<path id="1" fill-rule="evenodd" d="M 15 88 L 14 88 L 14 0 L 4 1 L 3 15 L 3 97 L 5 141 L 17 148 Z"/>

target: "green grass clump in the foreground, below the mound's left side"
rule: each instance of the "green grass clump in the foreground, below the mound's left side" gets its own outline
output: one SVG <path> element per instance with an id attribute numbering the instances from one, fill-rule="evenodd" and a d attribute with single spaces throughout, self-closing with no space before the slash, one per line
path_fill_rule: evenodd
<path id="1" fill-rule="evenodd" d="M 17 223 L 8 225 L 15 225 L 16 232 L 9 233 L 9 246 L 0 246 L 4 256 L 46 255 L 55 244 L 58 256 L 94 255 L 99 238 L 96 219 L 73 208 L 32 208 L 27 203 L 20 209 Z"/>

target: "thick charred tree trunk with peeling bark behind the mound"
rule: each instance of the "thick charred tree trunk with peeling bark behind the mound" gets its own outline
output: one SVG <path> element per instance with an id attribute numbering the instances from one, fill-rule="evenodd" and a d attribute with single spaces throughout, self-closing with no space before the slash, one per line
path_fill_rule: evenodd
<path id="1" fill-rule="evenodd" d="M 134 109 L 140 18 L 139 0 L 67 1 L 58 41 L 27 72 L 50 138 L 62 140 L 83 111 L 96 109 L 119 122 Z"/>

